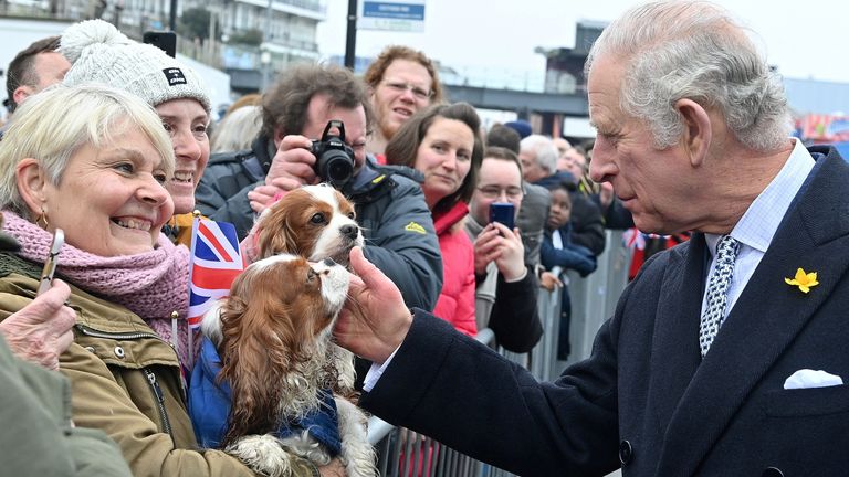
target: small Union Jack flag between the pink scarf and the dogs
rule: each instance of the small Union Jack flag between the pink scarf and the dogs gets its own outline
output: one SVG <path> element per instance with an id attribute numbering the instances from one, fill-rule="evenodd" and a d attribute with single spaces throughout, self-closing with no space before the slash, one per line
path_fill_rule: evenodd
<path id="1" fill-rule="evenodd" d="M 244 269 L 233 224 L 195 219 L 189 265 L 189 328 L 200 326 L 216 300 L 230 294 L 230 285 Z"/>

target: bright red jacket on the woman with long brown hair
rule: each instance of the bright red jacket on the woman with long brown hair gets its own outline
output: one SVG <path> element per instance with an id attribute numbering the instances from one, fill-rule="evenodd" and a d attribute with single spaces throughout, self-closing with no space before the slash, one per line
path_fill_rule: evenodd
<path id="1" fill-rule="evenodd" d="M 442 293 L 433 315 L 471 337 L 478 335 L 474 321 L 474 246 L 460 221 L 469 208 L 459 202 L 448 212 L 433 215 L 433 226 L 442 251 Z"/>

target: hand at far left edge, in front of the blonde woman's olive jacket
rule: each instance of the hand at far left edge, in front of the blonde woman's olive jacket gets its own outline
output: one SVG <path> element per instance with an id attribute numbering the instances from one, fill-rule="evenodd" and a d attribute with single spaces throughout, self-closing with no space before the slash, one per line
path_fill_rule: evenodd
<path id="1" fill-rule="evenodd" d="M 50 289 L 35 297 L 21 310 L 0 322 L 3 335 L 19 358 L 59 369 L 59 356 L 74 341 L 71 331 L 76 312 L 65 306 L 71 288 L 56 278 Z"/>

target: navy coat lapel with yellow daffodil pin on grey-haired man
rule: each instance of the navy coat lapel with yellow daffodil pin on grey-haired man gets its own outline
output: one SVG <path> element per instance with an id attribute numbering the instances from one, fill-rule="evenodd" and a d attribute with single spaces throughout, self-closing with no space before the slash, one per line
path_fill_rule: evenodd
<path id="1" fill-rule="evenodd" d="M 849 201 L 843 191 L 849 166 L 839 157 L 820 160 L 820 170 L 792 206 L 674 410 L 658 475 L 692 475 L 698 469 L 748 393 L 849 266 Z M 799 267 L 818 272 L 820 284 L 808 294 L 784 282 Z"/>

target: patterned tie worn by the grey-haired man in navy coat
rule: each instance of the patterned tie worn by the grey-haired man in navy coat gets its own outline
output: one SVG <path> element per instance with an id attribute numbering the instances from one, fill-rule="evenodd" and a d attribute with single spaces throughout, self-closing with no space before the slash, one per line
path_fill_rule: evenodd
<path id="1" fill-rule="evenodd" d="M 711 349 L 713 339 L 725 320 L 725 305 L 729 301 L 729 285 L 734 275 L 734 261 L 737 258 L 740 242 L 731 235 L 723 235 L 716 244 L 716 268 L 708 282 L 708 306 L 699 326 L 699 347 L 702 358 Z"/>

